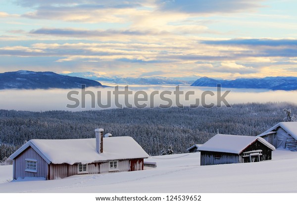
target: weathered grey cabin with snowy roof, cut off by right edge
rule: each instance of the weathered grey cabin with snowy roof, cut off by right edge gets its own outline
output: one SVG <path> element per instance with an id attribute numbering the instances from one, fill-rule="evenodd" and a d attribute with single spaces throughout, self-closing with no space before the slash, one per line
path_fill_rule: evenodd
<path id="1" fill-rule="evenodd" d="M 297 151 L 297 122 L 280 122 L 258 137 L 263 138 L 275 148 Z"/>

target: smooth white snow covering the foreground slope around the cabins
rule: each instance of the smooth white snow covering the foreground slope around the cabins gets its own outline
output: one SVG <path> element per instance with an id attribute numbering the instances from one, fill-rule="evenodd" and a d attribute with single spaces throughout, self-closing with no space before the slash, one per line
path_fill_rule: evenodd
<path id="1" fill-rule="evenodd" d="M 273 160 L 200 166 L 200 153 L 149 157 L 157 168 L 75 175 L 60 180 L 7 182 L 12 166 L 0 166 L 1 193 L 297 193 L 297 152 L 276 150 Z"/>

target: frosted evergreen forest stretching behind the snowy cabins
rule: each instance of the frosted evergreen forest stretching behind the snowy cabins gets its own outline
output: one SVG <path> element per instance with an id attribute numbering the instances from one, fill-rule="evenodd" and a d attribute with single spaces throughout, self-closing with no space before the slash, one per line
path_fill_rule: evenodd
<path id="1" fill-rule="evenodd" d="M 95 138 L 103 128 L 113 136 L 133 137 L 148 154 L 170 149 L 187 152 L 203 144 L 217 130 L 221 134 L 256 136 L 285 117 L 284 109 L 297 113 L 291 103 L 234 104 L 232 108 L 116 108 L 93 111 L 0 110 L 0 160 L 30 139 Z M 5 151 L 5 152 L 4 152 Z"/>

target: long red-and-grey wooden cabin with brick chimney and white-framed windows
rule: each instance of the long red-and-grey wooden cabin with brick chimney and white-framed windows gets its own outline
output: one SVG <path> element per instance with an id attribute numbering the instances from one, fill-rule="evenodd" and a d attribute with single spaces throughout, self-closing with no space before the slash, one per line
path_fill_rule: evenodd
<path id="1" fill-rule="evenodd" d="M 10 156 L 13 179 L 53 180 L 144 169 L 144 158 L 149 155 L 133 138 L 104 137 L 103 129 L 95 132 L 94 139 L 30 140 Z"/>

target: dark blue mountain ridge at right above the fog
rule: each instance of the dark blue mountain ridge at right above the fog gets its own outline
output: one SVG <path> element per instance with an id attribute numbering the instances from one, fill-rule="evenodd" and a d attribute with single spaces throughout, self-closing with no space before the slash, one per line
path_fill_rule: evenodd
<path id="1" fill-rule="evenodd" d="M 196 80 L 191 86 L 216 87 L 217 84 L 221 84 L 224 88 L 297 90 L 297 77 L 265 77 L 236 80 L 215 80 L 202 77 Z"/>

